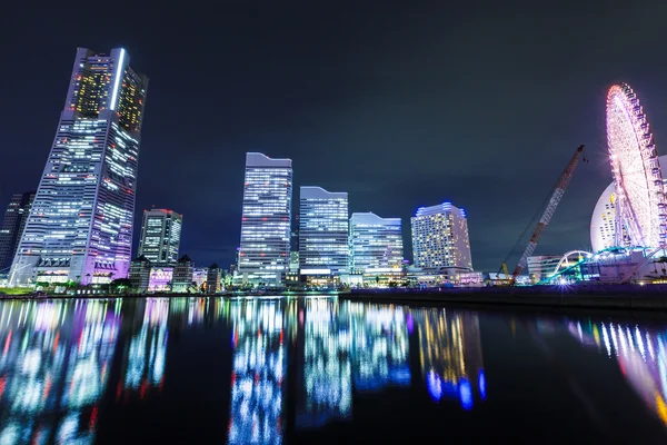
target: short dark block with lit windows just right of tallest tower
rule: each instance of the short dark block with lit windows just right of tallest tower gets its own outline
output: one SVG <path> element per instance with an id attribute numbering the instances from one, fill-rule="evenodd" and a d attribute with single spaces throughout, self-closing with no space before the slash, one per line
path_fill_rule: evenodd
<path id="1" fill-rule="evenodd" d="M 173 210 L 143 210 L 139 256 L 153 264 L 176 264 L 182 225 L 183 216 Z"/>

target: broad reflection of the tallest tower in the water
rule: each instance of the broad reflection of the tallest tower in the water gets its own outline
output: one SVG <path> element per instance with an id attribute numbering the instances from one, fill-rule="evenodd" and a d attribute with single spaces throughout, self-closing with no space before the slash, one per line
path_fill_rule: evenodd
<path id="1" fill-rule="evenodd" d="M 120 300 L 0 303 L 0 443 L 92 443 Z"/>

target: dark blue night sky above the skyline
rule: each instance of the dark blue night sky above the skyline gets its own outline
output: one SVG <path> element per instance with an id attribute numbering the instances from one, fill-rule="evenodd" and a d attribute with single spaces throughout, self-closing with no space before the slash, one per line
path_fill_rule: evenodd
<path id="1" fill-rule="evenodd" d="M 260 151 L 292 159 L 292 215 L 299 186 L 348 191 L 350 212 L 402 218 L 411 260 L 409 217 L 451 201 L 475 269 L 497 270 L 580 144 L 589 162 L 536 254 L 590 248 L 611 83 L 637 91 L 667 154 L 658 0 L 88 3 L 3 7 L 0 206 L 39 184 L 77 47 L 122 46 L 150 78 L 135 250 L 155 205 L 183 214 L 181 254 L 232 263 Z"/>

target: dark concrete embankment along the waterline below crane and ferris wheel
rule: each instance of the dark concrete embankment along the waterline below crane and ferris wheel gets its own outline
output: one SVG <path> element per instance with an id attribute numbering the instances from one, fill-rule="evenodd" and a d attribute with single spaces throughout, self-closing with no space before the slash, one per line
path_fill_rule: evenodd
<path id="1" fill-rule="evenodd" d="M 352 290 L 340 294 L 339 298 L 378 303 L 456 303 L 461 305 L 667 312 L 667 287 L 659 287 L 569 288 L 567 291 L 554 288 L 442 289 L 439 291 L 410 289 L 391 291 Z"/>

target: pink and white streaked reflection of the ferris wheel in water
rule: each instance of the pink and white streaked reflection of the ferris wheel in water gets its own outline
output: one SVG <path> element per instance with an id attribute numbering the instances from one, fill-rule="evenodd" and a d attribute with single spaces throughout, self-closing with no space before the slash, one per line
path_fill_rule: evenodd
<path id="1" fill-rule="evenodd" d="M 667 425 L 667 337 L 664 329 L 587 319 L 568 322 L 570 334 L 616 359 L 624 377 Z"/>

